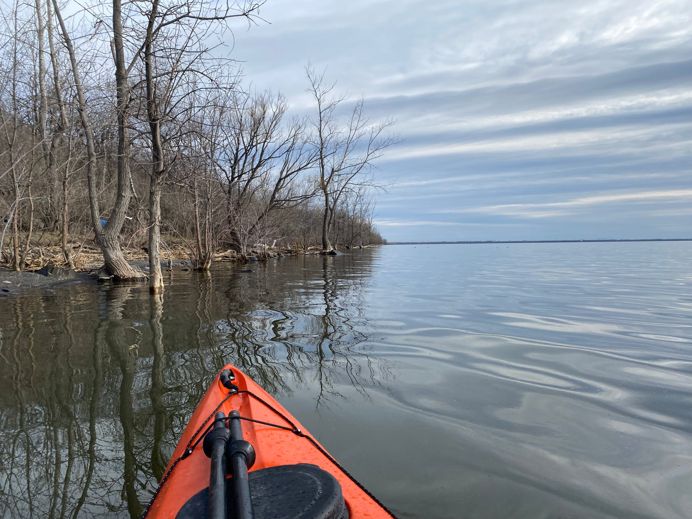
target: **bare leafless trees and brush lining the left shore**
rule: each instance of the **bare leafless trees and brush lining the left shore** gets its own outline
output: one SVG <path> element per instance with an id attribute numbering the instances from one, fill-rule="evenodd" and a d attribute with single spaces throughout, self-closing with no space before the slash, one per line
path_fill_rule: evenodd
<path id="1" fill-rule="evenodd" d="M 222 247 L 382 242 L 373 163 L 397 142 L 392 120 L 370 121 L 311 67 L 311 115 L 289 117 L 282 94 L 244 89 L 210 46 L 234 20 L 255 24 L 262 2 L 5 5 L 0 260 L 12 268 L 58 238 L 73 264 L 93 236 L 113 275 L 157 292 L 173 242 L 199 269 Z M 148 276 L 122 254 L 144 244 Z"/>

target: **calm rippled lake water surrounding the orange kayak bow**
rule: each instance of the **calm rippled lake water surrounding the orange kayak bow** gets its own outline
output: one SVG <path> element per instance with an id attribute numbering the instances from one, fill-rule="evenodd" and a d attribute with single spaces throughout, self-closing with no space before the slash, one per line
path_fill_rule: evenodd
<path id="1" fill-rule="evenodd" d="M 402 519 L 692 516 L 692 242 L 251 267 L 0 298 L 0 517 L 138 518 L 226 362 Z"/>

